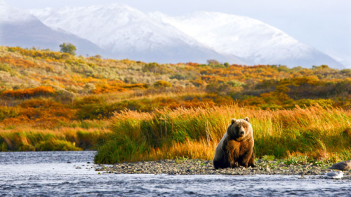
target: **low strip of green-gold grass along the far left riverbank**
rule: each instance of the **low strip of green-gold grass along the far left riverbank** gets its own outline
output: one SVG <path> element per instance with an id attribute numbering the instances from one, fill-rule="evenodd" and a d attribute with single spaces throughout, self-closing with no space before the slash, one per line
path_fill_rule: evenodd
<path id="1" fill-rule="evenodd" d="M 110 130 L 100 128 L 53 129 L 20 126 L 0 128 L 0 151 L 81 151 L 95 149 Z"/>

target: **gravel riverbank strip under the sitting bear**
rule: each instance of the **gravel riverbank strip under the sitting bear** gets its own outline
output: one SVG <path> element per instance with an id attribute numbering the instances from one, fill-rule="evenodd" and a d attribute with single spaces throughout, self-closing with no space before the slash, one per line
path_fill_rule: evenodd
<path id="1" fill-rule="evenodd" d="M 98 165 L 96 171 L 115 174 L 168 174 L 168 175 L 325 175 L 331 172 L 330 165 L 313 164 L 286 165 L 282 161 L 263 161 L 259 159 L 255 168 L 214 169 L 212 161 L 199 159 L 143 161 L 135 163 L 117 163 L 114 165 Z M 351 172 L 348 172 L 351 174 Z M 344 175 L 350 179 L 350 175 Z"/>

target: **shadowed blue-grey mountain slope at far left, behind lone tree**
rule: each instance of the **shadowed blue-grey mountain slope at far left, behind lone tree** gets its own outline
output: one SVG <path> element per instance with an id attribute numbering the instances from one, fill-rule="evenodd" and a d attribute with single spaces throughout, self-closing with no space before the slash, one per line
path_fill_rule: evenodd
<path id="1" fill-rule="evenodd" d="M 54 31 L 29 12 L 0 1 L 0 45 L 59 50 L 59 45 L 63 42 L 77 46 L 77 54 L 109 54 L 91 41 L 73 34 Z"/>

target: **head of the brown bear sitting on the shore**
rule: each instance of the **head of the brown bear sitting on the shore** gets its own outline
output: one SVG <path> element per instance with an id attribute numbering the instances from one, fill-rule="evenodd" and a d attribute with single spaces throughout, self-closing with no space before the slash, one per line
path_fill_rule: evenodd
<path id="1" fill-rule="evenodd" d="M 235 120 L 227 129 L 227 134 L 236 141 L 243 141 L 252 137 L 252 127 L 249 118 Z"/>

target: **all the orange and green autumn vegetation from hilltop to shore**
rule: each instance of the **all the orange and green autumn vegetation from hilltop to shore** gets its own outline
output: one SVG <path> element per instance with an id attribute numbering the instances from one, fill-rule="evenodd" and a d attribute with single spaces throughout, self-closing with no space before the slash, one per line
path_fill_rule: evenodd
<path id="1" fill-rule="evenodd" d="M 256 156 L 350 158 L 351 69 L 158 64 L 0 46 L 0 150 L 97 149 L 97 163 L 213 157 L 230 118 Z"/>

